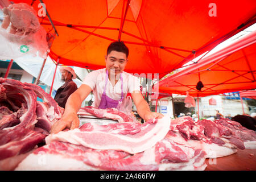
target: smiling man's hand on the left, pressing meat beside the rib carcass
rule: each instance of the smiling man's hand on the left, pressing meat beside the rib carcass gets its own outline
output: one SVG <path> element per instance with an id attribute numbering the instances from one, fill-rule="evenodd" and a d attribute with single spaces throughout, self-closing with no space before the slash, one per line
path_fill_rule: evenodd
<path id="1" fill-rule="evenodd" d="M 79 127 L 79 118 L 77 117 L 77 114 L 69 113 L 67 115 L 63 115 L 63 118 L 53 124 L 51 134 L 59 133 L 65 128 L 73 130 L 77 127 Z"/>

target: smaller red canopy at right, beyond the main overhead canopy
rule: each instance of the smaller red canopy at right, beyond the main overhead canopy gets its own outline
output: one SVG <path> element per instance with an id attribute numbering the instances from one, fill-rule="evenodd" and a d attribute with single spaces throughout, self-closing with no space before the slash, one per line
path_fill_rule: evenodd
<path id="1" fill-rule="evenodd" d="M 204 97 L 256 88 L 256 31 L 159 82 L 159 92 Z M 201 81 L 203 88 L 197 89 Z"/>

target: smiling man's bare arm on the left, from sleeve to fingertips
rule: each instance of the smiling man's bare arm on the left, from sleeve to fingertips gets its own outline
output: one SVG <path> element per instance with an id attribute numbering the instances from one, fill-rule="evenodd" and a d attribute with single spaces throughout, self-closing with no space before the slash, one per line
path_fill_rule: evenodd
<path id="1" fill-rule="evenodd" d="M 79 127 L 77 111 L 79 111 L 82 101 L 85 100 L 91 91 L 92 89 L 90 86 L 82 84 L 80 88 L 69 96 L 65 105 L 63 117 L 54 123 L 51 128 L 51 133 L 58 133 L 59 131 L 64 130 L 66 127 L 71 130 Z"/>

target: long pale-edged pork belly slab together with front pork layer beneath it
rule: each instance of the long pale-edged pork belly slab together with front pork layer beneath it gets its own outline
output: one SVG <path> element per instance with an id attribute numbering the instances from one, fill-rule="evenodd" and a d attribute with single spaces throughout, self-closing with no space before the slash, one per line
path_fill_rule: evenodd
<path id="1" fill-rule="evenodd" d="M 48 135 L 16 170 L 204 170 L 205 151 L 166 137 L 170 121 L 85 123 Z"/>

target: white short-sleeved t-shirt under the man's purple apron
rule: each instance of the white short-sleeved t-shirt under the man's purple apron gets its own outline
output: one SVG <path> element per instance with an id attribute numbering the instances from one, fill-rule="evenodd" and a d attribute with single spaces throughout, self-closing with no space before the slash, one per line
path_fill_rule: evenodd
<path id="1" fill-rule="evenodd" d="M 122 72 L 123 78 L 123 98 L 126 98 L 127 93 L 133 93 L 134 91 L 140 90 L 139 79 L 127 72 Z M 106 68 L 98 69 L 96 71 L 90 72 L 84 78 L 82 84 L 86 84 L 90 86 L 93 90 L 94 95 L 94 107 L 98 107 L 101 102 L 101 96 L 104 92 L 106 81 Z M 108 84 L 106 85 L 106 96 L 112 98 L 113 100 L 121 99 L 121 79 L 119 78 L 118 82 L 113 86 L 110 82 L 110 78 L 108 80 Z"/>

